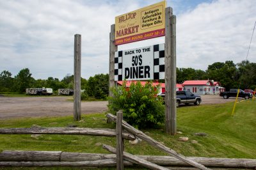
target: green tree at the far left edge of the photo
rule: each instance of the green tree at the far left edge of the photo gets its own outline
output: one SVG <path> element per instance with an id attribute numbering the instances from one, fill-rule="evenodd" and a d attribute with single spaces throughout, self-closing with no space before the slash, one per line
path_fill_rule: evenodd
<path id="1" fill-rule="evenodd" d="M 3 70 L 0 73 L 0 90 L 1 91 L 11 91 L 13 86 L 12 73 L 7 70 Z"/>

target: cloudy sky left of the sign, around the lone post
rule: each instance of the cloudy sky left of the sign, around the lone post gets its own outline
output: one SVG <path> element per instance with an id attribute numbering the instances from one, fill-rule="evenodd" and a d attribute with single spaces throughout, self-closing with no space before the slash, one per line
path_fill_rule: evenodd
<path id="1" fill-rule="evenodd" d="M 82 75 L 108 73 L 109 31 L 136 1 L 0 1 L 0 70 L 29 68 L 36 79 L 73 73 L 74 35 L 82 35 Z"/>

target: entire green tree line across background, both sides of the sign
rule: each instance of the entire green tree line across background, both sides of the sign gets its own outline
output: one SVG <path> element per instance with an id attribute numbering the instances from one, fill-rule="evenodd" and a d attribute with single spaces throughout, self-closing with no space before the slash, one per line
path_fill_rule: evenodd
<path id="1" fill-rule="evenodd" d="M 106 98 L 108 96 L 108 74 L 96 74 L 89 79 L 81 77 L 81 89 L 85 89 L 85 96 Z M 189 80 L 214 80 L 221 86 L 230 88 L 255 89 L 256 88 L 256 63 L 241 61 L 234 64 L 233 61 L 216 62 L 209 65 L 207 70 L 195 68 L 177 68 L 177 83 L 182 84 Z M 26 88 L 52 88 L 57 91 L 61 88 L 73 88 L 74 75 L 66 75 L 62 80 L 48 77 L 48 79 L 34 79 L 29 68 L 24 68 L 12 77 L 12 73 L 3 70 L 0 73 L 0 92 L 25 93 Z"/>

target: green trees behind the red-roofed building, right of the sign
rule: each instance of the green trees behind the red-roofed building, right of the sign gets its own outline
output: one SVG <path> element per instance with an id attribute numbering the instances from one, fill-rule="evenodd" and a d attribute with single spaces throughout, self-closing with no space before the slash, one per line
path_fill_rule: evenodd
<path id="1" fill-rule="evenodd" d="M 209 65 L 206 71 L 193 68 L 177 68 L 177 83 L 189 80 L 214 80 L 229 90 L 231 88 L 255 89 L 256 88 L 256 63 L 241 61 L 216 62 Z"/>

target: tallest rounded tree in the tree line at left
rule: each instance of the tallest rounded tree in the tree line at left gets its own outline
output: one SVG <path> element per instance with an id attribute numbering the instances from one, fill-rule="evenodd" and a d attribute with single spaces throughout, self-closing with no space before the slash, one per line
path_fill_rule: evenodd
<path id="1" fill-rule="evenodd" d="M 26 88 L 31 88 L 32 82 L 35 81 L 31 75 L 28 68 L 20 70 L 20 72 L 15 75 L 15 87 L 19 93 L 24 93 Z"/>

